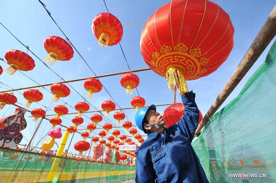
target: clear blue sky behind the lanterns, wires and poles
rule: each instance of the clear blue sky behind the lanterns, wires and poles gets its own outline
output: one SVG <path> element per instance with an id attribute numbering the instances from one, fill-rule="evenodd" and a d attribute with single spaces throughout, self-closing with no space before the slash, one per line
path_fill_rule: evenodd
<path id="1" fill-rule="evenodd" d="M 103 49 L 98 46 L 98 41 L 94 37 L 91 31 L 91 23 L 94 16 L 101 12 L 106 12 L 104 2 L 102 0 L 94 1 L 43 1 L 46 8 L 51 12 L 51 15 L 56 20 L 57 24 L 65 32 L 70 41 L 78 49 L 82 57 L 90 65 L 93 71 L 97 75 L 114 73 L 119 71 L 127 71 L 128 67 L 126 61 L 123 57 L 121 48 L 119 45 L 108 46 Z M 105 0 L 107 8 L 110 13 L 117 16 L 122 24 L 132 23 L 147 20 L 151 14 L 153 14 L 156 9 L 160 6 L 165 5 L 170 1 L 112 1 Z M 263 26 L 266 18 L 270 14 L 271 10 L 275 5 L 275 1 L 266 0 L 260 3 L 260 1 L 249 1 L 249 0 L 233 0 L 233 1 L 213 1 L 220 5 L 230 16 L 232 24 L 235 28 L 234 33 L 234 47 L 228 60 L 220 66 L 217 71 L 208 75 L 206 77 L 188 81 L 187 85 L 189 90 L 193 90 L 196 93 L 196 102 L 198 108 L 204 115 L 209 107 L 213 104 L 217 95 L 220 93 L 221 89 L 228 81 L 229 77 L 232 75 L 236 66 L 240 63 L 240 60 L 246 53 L 247 49 L 253 42 L 255 36 L 258 34 L 259 30 Z M 28 45 L 29 49 L 33 51 L 41 60 L 48 55 L 44 49 L 43 41 L 47 36 L 60 36 L 65 38 L 62 32 L 54 24 L 51 18 L 48 16 L 47 12 L 41 6 L 38 1 L 8 1 L 4 0 L 1 2 L 0 11 L 0 22 L 7 27 L 23 44 Z M 147 68 L 148 65 L 144 62 L 143 57 L 140 53 L 140 36 L 142 28 L 145 23 L 132 24 L 123 26 L 124 35 L 121 40 L 121 46 L 124 50 L 125 57 L 128 60 L 130 68 L 139 69 Z M 27 52 L 27 49 L 22 46 L 4 27 L 0 26 L 0 57 L 4 58 L 6 51 L 10 49 L 19 49 L 21 51 Z M 275 38 L 273 39 L 273 41 Z M 272 45 L 265 49 L 263 54 L 259 57 L 253 67 L 249 70 L 247 75 L 242 79 L 240 84 L 231 93 L 228 99 L 224 102 L 222 107 L 224 107 L 228 102 L 230 102 L 234 97 L 238 95 L 244 84 L 254 73 L 254 71 L 263 63 L 266 54 Z M 74 50 L 75 51 L 75 50 Z M 24 72 L 30 78 L 35 80 L 40 84 L 59 82 L 60 79 L 48 68 L 41 63 L 33 54 L 29 52 L 30 56 L 35 60 L 36 67 L 32 71 Z M 8 65 L 0 60 L 0 65 L 5 69 Z M 56 63 L 51 66 L 52 70 L 58 73 L 63 79 L 77 79 L 83 77 L 94 76 L 90 69 L 83 62 L 81 57 L 75 51 L 74 57 L 70 61 L 56 61 Z M 150 104 L 164 104 L 173 102 L 173 93 L 167 89 L 166 79 L 155 74 L 153 71 L 143 71 L 137 72 L 136 75 L 140 78 L 140 85 L 138 86 L 138 91 L 141 97 L 146 100 L 146 105 Z M 125 94 L 125 89 L 120 85 L 121 75 L 111 76 L 101 78 L 102 84 L 106 89 L 113 95 L 115 101 L 120 107 L 131 107 L 130 100 L 132 97 L 136 96 L 136 90 L 133 90 L 131 96 Z M 35 82 L 28 79 L 26 76 L 19 72 L 14 75 L 7 75 L 3 72 L 0 75 L 0 81 L 12 88 L 20 88 L 25 86 L 36 85 Z M 0 83 L 1 84 L 1 83 Z M 86 96 L 87 91 L 83 88 L 83 82 L 71 82 L 73 86 L 83 97 Z M 6 86 L 1 87 L 2 90 L 6 90 Z M 50 90 L 50 86 L 46 87 Z M 57 104 L 63 104 L 62 101 L 57 103 L 52 103 L 52 94 L 48 93 L 43 88 L 39 88 L 44 95 L 44 99 L 40 101 L 40 104 L 44 106 L 53 107 Z M 74 106 L 75 103 L 82 101 L 82 98 L 71 89 L 71 94 L 69 97 L 63 98 L 65 102 L 69 105 Z M 19 92 L 23 93 L 24 90 Z M 18 101 L 21 104 L 25 103 L 25 99 L 22 94 L 14 92 Z M 87 99 L 95 108 L 101 110 L 101 104 L 103 101 L 108 100 L 109 95 L 105 90 L 93 95 L 92 99 Z M 177 102 L 180 101 L 179 95 L 177 96 Z M 39 108 L 39 104 L 33 103 L 31 108 Z M 69 112 L 76 112 L 74 109 L 67 106 Z M 116 106 L 118 107 L 118 106 Z M 158 107 L 157 110 L 162 113 L 167 106 Z M 91 110 L 94 110 L 90 106 Z M 14 112 L 14 106 L 6 106 L 4 110 L 0 111 L 0 117 L 10 115 Z M 124 110 L 125 114 L 128 116 L 132 123 L 134 122 L 135 109 Z M 53 114 L 54 112 L 49 111 L 48 114 Z M 109 119 L 116 124 L 116 120 L 113 119 L 113 113 L 110 113 Z M 27 112 L 25 118 L 27 120 L 28 126 L 22 131 L 24 139 L 21 144 L 28 143 L 31 138 L 33 131 L 36 127 L 35 122 L 32 122 L 32 118 L 28 118 L 30 113 Z M 90 116 L 92 113 L 86 113 L 84 118 L 84 123 L 82 126 L 86 126 L 90 123 Z M 67 115 L 68 119 L 72 119 L 74 115 Z M 63 125 L 70 126 L 72 122 L 68 119 L 61 118 L 63 120 Z M 108 121 L 108 120 L 107 120 Z M 99 123 L 103 125 L 106 123 L 104 120 Z M 44 120 L 39 133 L 34 139 L 34 144 L 36 145 L 38 140 L 40 140 L 45 134 L 47 134 L 50 129 L 51 124 Z M 62 130 L 65 130 L 62 128 Z M 125 131 L 124 128 L 122 128 Z M 98 134 L 99 130 L 95 130 Z M 92 133 L 93 134 L 93 133 Z M 141 133 L 143 135 L 143 133 Z M 109 135 L 111 135 L 109 133 Z M 48 138 L 47 136 L 44 138 Z M 69 140 L 71 139 L 71 135 Z M 75 134 L 72 143 L 75 143 L 81 139 L 80 134 Z M 60 141 L 56 140 L 58 143 Z M 90 141 L 90 140 L 89 140 Z M 43 141 L 42 141 L 43 142 Z M 41 146 L 41 143 L 38 144 Z M 67 146 L 66 146 L 67 148 Z M 56 145 L 53 148 L 56 149 Z M 75 152 L 73 145 L 69 148 L 70 152 Z"/>

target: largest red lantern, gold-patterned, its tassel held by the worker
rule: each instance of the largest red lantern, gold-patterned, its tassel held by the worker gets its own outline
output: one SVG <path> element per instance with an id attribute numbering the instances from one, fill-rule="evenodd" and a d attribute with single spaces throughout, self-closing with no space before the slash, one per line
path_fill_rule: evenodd
<path id="1" fill-rule="evenodd" d="M 170 90 L 188 91 L 185 80 L 211 74 L 233 48 L 229 15 L 205 0 L 172 1 L 160 7 L 145 24 L 140 48 L 148 66 L 167 78 Z"/>

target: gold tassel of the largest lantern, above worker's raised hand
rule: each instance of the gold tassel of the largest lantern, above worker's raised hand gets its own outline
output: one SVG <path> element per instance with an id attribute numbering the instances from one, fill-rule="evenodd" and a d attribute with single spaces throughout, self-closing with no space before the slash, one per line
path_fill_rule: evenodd
<path id="1" fill-rule="evenodd" d="M 175 86 L 178 84 L 181 95 L 188 92 L 188 87 L 187 87 L 183 72 L 181 70 L 178 70 L 176 68 L 169 68 L 166 76 L 167 76 L 168 88 L 171 91 L 176 92 Z"/>

